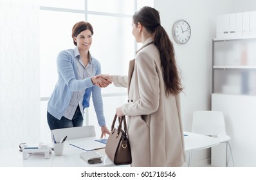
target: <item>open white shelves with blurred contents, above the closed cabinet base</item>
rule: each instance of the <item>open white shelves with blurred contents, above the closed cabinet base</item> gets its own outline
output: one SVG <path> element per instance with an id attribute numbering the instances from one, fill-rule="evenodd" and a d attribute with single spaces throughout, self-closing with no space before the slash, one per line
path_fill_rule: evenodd
<path id="1" fill-rule="evenodd" d="M 212 93 L 256 96 L 256 38 L 212 40 Z"/>

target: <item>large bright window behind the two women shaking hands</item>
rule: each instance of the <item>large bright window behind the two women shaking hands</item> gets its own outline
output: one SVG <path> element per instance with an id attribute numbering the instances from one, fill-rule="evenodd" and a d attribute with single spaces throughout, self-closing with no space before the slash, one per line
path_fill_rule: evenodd
<path id="1" fill-rule="evenodd" d="M 100 61 L 102 73 L 126 75 L 134 58 L 136 42 L 131 34 L 133 13 L 153 0 L 41 0 L 41 140 L 51 141 L 46 118 L 48 98 L 57 82 L 56 57 L 63 49 L 74 48 L 71 28 L 78 21 L 88 21 L 94 29 L 91 54 Z M 102 89 L 104 116 L 110 128 L 116 107 L 127 100 L 127 89 L 109 85 Z M 92 105 L 86 111 L 84 125 L 100 127 Z M 49 133 L 48 133 L 49 132 Z"/>

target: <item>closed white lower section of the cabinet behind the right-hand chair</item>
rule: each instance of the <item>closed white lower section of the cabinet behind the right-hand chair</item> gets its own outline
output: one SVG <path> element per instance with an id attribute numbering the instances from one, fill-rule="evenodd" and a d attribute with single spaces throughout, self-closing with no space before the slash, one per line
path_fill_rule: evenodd
<path id="1" fill-rule="evenodd" d="M 235 167 L 256 167 L 256 96 L 212 94 L 212 111 L 222 111 L 226 122 L 226 132 L 231 137 L 233 163 Z M 212 149 L 212 162 L 219 167 L 225 165 L 225 147 Z M 228 151 L 228 167 L 232 158 Z"/>

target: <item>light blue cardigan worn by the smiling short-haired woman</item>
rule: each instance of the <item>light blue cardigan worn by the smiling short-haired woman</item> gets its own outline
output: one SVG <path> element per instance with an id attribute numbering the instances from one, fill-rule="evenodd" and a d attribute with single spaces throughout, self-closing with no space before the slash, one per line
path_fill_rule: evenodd
<path id="1" fill-rule="evenodd" d="M 75 49 L 77 49 L 77 47 Z M 59 55 L 57 56 L 57 72 L 59 78 L 53 93 L 51 93 L 47 111 L 52 116 L 60 120 L 68 108 L 73 91 L 80 91 L 82 89 L 89 88 L 89 93 L 84 95 L 83 104 L 85 105 L 86 103 L 84 101 L 87 101 L 87 106 L 89 106 L 89 98 L 92 93 L 93 105 L 95 107 L 98 124 L 100 127 L 102 127 L 105 125 L 105 118 L 101 89 L 100 87 L 93 85 L 93 82 L 91 82 L 91 77 L 79 80 L 77 64 L 75 62 L 75 49 L 60 51 Z M 93 68 L 95 68 L 95 75 L 100 74 L 100 62 L 93 57 L 92 62 Z M 83 113 L 84 112 L 82 112 L 82 114 Z"/>

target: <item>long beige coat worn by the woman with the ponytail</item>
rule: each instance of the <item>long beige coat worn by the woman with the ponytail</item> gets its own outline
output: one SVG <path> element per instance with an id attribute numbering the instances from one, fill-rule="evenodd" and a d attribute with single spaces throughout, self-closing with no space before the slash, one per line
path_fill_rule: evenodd
<path id="1" fill-rule="evenodd" d="M 166 96 L 158 48 L 148 39 L 129 64 L 128 76 L 113 76 L 128 88 L 127 116 L 132 167 L 181 167 L 185 162 L 179 96 Z"/>

